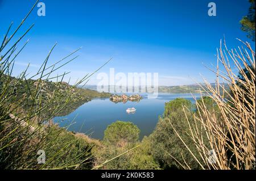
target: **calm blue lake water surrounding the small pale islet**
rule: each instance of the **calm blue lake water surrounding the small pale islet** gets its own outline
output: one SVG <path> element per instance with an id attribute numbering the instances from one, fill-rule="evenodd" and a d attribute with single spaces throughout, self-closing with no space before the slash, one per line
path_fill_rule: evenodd
<path id="1" fill-rule="evenodd" d="M 158 117 L 163 115 L 164 103 L 175 98 L 185 98 L 195 103 L 191 94 L 164 94 L 161 93 L 156 99 L 148 99 L 146 94 L 141 94 L 140 102 L 113 103 L 109 99 L 93 99 L 83 104 L 67 116 L 55 117 L 55 123 L 60 127 L 68 127 L 69 131 L 89 134 L 92 138 L 102 139 L 104 131 L 109 124 L 117 120 L 131 121 L 141 129 L 140 139 L 148 136 L 154 130 Z M 199 94 L 193 96 L 200 97 Z M 135 107 L 137 111 L 127 114 L 126 109 Z"/>

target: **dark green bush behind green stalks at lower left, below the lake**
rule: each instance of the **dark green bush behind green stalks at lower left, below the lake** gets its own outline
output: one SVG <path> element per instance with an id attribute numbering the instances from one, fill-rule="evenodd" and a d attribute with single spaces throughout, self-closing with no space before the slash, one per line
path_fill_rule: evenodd
<path id="1" fill-rule="evenodd" d="M 42 145 L 42 149 L 46 151 L 46 159 L 50 158 L 46 160 L 44 167 L 92 169 L 91 149 L 94 144 L 89 144 L 64 128 L 51 129 L 54 129 L 53 133 Z"/>

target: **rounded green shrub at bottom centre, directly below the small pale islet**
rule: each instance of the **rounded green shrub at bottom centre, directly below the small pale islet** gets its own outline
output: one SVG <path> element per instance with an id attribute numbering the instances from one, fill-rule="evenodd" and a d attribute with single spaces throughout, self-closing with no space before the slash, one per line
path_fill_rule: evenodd
<path id="1" fill-rule="evenodd" d="M 150 154 L 150 144 L 147 138 L 138 141 L 139 128 L 130 122 L 116 121 L 105 130 L 102 147 L 94 148 L 96 157 L 94 164 L 106 163 L 100 169 L 159 169 Z M 133 149 L 135 146 L 139 147 Z M 126 154 L 127 150 L 133 149 Z M 122 154 L 122 155 L 121 155 Z"/>

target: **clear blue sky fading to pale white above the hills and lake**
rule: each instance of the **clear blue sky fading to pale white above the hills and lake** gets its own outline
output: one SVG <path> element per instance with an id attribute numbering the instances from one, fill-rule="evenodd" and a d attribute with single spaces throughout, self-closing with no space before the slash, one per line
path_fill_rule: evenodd
<path id="1" fill-rule="evenodd" d="M 125 74 L 158 72 L 159 85 L 167 86 L 195 83 L 193 79 L 200 82 L 200 74 L 214 82 L 202 63 L 216 64 L 214 54 L 224 35 L 230 48 L 241 45 L 236 37 L 253 44 L 240 30 L 239 21 L 250 6 L 246 0 L 42 2 L 46 16 L 38 16 L 35 7 L 16 36 L 35 23 L 25 36 L 24 41 L 30 42 L 16 58 L 14 74 L 28 62 L 34 73 L 57 41 L 49 64 L 82 47 L 75 61 L 56 72 L 71 71 L 65 78 L 71 77 L 71 83 L 112 57 L 99 72 L 109 73 L 110 68 Z M 217 16 L 208 16 L 209 2 L 216 3 Z M 18 26 L 33 3 L 0 0 L 1 39 L 10 22 Z M 96 83 L 96 76 L 88 82 Z"/>

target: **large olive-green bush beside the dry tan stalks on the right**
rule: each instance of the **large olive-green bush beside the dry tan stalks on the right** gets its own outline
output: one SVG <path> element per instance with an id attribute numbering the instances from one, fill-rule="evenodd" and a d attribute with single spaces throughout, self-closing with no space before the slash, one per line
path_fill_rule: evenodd
<path id="1" fill-rule="evenodd" d="M 151 140 L 152 155 L 162 169 L 184 169 L 177 162 L 182 162 L 185 165 L 183 158 L 191 165 L 191 169 L 199 168 L 195 159 L 193 159 L 192 155 L 171 127 L 172 124 L 176 131 L 181 134 L 183 140 L 188 145 L 191 145 L 192 140 L 189 136 L 189 125 L 185 114 L 189 121 L 192 121 L 193 116 L 189 111 L 185 110 L 184 112 L 183 106 L 191 108 L 192 103 L 182 98 L 177 98 L 166 103 L 165 117 L 159 118 L 154 132 L 149 137 Z"/>

